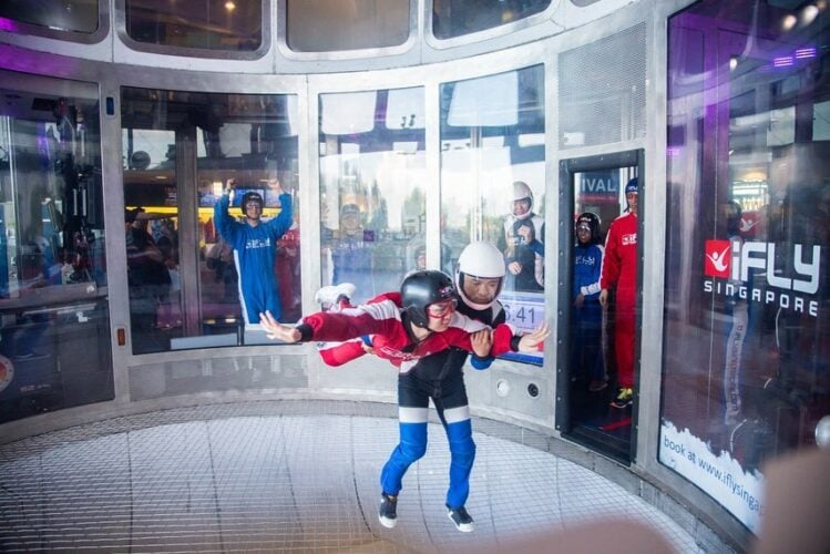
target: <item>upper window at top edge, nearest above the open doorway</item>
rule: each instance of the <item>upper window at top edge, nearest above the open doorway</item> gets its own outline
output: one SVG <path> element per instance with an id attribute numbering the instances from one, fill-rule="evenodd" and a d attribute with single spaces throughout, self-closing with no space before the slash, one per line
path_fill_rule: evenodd
<path id="1" fill-rule="evenodd" d="M 452 39 L 529 18 L 551 0 L 432 0 L 432 34 Z"/>

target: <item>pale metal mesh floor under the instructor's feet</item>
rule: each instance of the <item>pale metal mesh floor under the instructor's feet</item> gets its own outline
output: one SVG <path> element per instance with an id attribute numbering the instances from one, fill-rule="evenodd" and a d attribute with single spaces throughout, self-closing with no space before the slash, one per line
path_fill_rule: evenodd
<path id="1" fill-rule="evenodd" d="M 444 552 L 616 515 L 698 552 L 617 484 L 482 433 L 467 504 L 477 527 L 459 533 L 443 504 L 449 449 L 438 424 L 387 530 L 378 475 L 397 421 L 308 411 L 280 413 L 279 402 L 166 410 L 0 447 L 0 551 Z"/>

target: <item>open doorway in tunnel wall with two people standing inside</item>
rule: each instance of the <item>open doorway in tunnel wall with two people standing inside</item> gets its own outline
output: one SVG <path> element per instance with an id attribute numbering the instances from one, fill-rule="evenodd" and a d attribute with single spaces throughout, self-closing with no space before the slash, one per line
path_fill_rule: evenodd
<path id="1" fill-rule="evenodd" d="M 556 428 L 625 464 L 636 453 L 643 171 L 642 150 L 560 162 Z"/>

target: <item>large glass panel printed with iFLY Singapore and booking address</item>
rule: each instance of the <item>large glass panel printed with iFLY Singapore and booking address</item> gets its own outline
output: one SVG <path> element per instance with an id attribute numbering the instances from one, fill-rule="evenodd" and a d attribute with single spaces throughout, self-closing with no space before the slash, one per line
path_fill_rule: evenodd
<path id="1" fill-rule="evenodd" d="M 755 533 L 762 464 L 830 414 L 830 34 L 785 4 L 669 21 L 659 460 Z"/>

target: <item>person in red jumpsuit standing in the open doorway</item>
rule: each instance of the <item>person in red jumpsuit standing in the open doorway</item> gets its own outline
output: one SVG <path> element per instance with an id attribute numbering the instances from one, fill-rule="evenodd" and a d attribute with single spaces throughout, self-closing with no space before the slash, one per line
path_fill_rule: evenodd
<path id="1" fill-rule="evenodd" d="M 617 391 L 611 402 L 614 408 L 626 408 L 634 398 L 634 334 L 637 295 L 637 177 L 625 185 L 626 213 L 614 219 L 605 239 L 600 304 L 608 305 L 608 290 L 616 290 L 614 320 L 614 352 L 617 360 Z"/>

